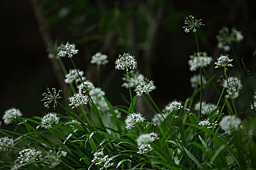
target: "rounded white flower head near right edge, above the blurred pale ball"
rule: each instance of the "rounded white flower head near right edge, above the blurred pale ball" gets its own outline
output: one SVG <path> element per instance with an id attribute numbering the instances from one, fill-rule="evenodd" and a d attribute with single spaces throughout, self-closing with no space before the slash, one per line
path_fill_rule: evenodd
<path id="1" fill-rule="evenodd" d="M 237 77 L 229 77 L 224 81 L 223 86 L 227 88 L 226 98 L 236 99 L 239 96 L 239 91 L 242 89 L 242 82 Z"/>

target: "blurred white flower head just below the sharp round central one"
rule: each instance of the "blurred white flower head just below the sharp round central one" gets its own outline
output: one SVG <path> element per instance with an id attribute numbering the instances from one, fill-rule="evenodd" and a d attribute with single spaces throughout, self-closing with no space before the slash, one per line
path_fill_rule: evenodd
<path id="1" fill-rule="evenodd" d="M 124 77 L 122 78 L 122 80 L 124 81 L 122 87 L 125 87 L 127 89 L 129 87 L 135 88 L 138 84 L 143 82 L 144 79 L 145 77 L 142 74 L 131 70 L 130 72 L 128 72 L 128 74 L 124 74 Z"/>

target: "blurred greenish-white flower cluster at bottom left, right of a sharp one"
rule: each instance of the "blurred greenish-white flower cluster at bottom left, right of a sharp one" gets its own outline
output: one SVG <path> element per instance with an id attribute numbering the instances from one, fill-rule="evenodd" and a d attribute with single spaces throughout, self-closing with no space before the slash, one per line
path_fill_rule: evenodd
<path id="1" fill-rule="evenodd" d="M 65 157 L 66 155 L 67 152 L 63 150 L 59 150 L 58 152 L 56 150 L 49 150 L 44 156 L 45 164 L 47 164 L 47 166 L 51 169 L 55 168 L 60 164 L 61 157 Z"/>

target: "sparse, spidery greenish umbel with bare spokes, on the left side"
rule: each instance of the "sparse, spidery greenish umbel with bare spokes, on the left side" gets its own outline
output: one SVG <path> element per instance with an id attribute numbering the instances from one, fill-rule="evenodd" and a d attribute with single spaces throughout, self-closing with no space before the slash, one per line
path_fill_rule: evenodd
<path id="1" fill-rule="evenodd" d="M 42 96 L 44 96 L 44 98 L 41 101 L 46 101 L 43 103 L 43 106 L 49 108 L 49 104 L 53 102 L 53 108 L 55 109 L 57 106 L 57 99 L 61 98 L 61 96 L 59 95 L 61 91 L 62 90 L 56 92 L 56 88 L 52 88 L 51 92 L 50 88 L 47 87 L 47 93 L 42 93 Z"/>

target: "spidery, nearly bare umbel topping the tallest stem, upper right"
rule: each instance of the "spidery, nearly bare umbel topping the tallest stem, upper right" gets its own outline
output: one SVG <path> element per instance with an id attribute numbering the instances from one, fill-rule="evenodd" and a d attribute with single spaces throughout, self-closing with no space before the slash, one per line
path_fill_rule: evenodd
<path id="1" fill-rule="evenodd" d="M 202 19 L 198 20 L 193 16 L 186 17 L 186 19 L 184 21 L 185 26 L 182 27 L 182 28 L 184 28 L 184 32 L 189 33 L 190 31 L 192 31 L 193 33 L 196 33 L 198 28 L 204 26 L 204 24 L 202 24 L 201 20 Z"/>

